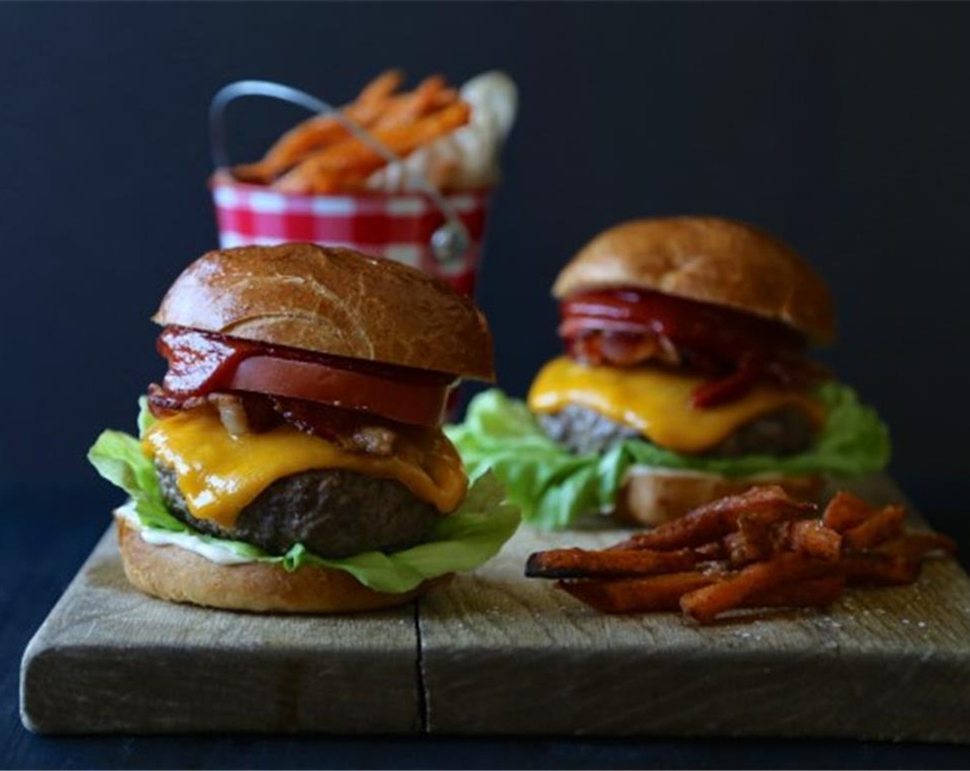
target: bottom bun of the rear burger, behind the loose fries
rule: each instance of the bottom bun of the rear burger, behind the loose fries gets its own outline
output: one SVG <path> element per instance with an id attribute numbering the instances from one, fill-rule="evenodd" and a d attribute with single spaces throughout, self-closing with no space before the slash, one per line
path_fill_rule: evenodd
<path id="1" fill-rule="evenodd" d="M 694 471 L 633 466 L 616 498 L 616 516 L 630 525 L 663 525 L 691 509 L 725 496 L 736 496 L 755 485 L 781 485 L 792 498 L 817 500 L 824 476 L 727 477 Z"/>

